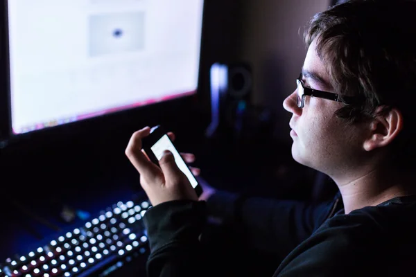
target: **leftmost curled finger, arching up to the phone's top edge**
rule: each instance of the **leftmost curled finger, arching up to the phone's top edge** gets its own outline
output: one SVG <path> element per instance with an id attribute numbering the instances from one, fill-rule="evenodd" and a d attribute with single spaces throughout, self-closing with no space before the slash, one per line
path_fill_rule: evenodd
<path id="1" fill-rule="evenodd" d="M 152 178 L 157 176 L 157 166 L 149 161 L 146 155 L 141 152 L 141 139 L 144 139 L 149 134 L 149 127 L 144 127 L 132 134 L 127 148 L 125 148 L 125 155 L 141 175 Z"/>

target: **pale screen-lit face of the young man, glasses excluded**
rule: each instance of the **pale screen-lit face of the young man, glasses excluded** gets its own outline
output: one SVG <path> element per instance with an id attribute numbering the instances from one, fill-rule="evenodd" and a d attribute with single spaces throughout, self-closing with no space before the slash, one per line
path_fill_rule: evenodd
<path id="1" fill-rule="evenodd" d="M 315 51 L 315 41 L 308 49 L 302 69 L 305 87 L 332 92 L 329 75 Z M 284 100 L 290 121 L 295 161 L 327 175 L 337 175 L 358 165 L 363 150 L 363 128 L 348 125 L 334 113 L 343 103 L 305 96 L 304 107 L 296 104 L 297 91 Z"/>

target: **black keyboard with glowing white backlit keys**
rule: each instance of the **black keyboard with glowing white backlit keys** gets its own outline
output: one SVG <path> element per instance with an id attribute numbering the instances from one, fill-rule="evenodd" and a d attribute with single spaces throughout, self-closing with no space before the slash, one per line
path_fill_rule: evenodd
<path id="1" fill-rule="evenodd" d="M 0 277 L 106 276 L 148 253 L 141 218 L 150 207 L 146 200 L 114 204 L 46 245 L 8 258 Z"/>

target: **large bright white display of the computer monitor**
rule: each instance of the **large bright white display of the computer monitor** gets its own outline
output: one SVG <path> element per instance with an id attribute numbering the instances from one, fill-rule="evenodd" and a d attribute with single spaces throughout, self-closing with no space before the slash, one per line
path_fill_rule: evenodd
<path id="1" fill-rule="evenodd" d="M 15 134 L 195 93 L 203 0 L 10 0 Z"/>

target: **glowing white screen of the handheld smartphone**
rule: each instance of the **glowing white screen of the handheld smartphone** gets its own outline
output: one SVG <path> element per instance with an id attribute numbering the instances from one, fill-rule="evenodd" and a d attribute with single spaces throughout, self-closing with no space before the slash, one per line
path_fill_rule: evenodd
<path id="1" fill-rule="evenodd" d="M 171 140 L 166 134 L 162 136 L 162 138 L 160 138 L 159 141 L 157 141 L 157 143 L 155 143 L 150 149 L 153 151 L 153 154 L 155 154 L 157 161 L 162 159 L 164 150 L 171 151 L 173 157 L 175 157 L 177 167 L 184 172 L 184 175 L 187 175 L 192 187 L 195 188 L 196 185 L 198 185 L 198 181 L 196 181 L 195 177 L 193 177 L 191 170 L 189 170 L 187 164 L 184 162 L 182 157 L 180 157 L 180 154 L 177 152 L 176 148 L 173 146 Z"/>

